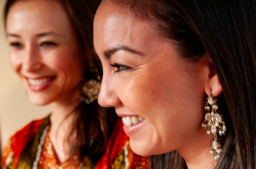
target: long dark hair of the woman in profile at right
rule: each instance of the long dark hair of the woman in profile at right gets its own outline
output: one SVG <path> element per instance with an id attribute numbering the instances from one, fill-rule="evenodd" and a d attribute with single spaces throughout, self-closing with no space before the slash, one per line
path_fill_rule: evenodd
<path id="1" fill-rule="evenodd" d="M 225 137 L 218 169 L 256 168 L 256 1 L 111 0 L 152 24 L 189 61 L 208 53 L 223 92 Z M 151 156 L 151 168 L 187 168 L 177 151 Z"/>

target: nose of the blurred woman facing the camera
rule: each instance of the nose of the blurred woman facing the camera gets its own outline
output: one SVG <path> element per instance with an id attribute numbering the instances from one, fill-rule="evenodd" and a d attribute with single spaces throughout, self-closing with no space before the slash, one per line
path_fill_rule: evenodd
<path id="1" fill-rule="evenodd" d="M 40 62 L 40 52 L 33 44 L 28 44 L 22 60 L 22 69 L 27 72 L 39 70 L 43 64 Z"/>

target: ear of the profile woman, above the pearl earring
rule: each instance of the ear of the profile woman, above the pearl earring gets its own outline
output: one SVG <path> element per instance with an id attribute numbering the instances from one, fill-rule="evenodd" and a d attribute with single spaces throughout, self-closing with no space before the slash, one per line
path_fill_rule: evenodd
<path id="1" fill-rule="evenodd" d="M 216 74 L 212 60 L 208 54 L 206 55 L 205 59 L 208 60 L 208 63 L 209 63 L 209 72 L 208 72 L 209 76 L 208 76 L 208 80 L 204 90 L 207 95 L 209 95 L 212 90 L 212 95 L 216 97 L 220 95 L 220 93 L 222 92 L 222 87 L 220 85 L 219 77 Z"/>

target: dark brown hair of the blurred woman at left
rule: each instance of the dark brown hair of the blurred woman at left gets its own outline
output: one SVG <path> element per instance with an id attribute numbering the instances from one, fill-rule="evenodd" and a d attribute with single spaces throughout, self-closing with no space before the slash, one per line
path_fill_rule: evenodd
<path id="1" fill-rule="evenodd" d="M 4 9 L 4 25 L 11 6 L 20 0 L 8 0 Z M 24 0 L 23 0 L 24 1 Z M 76 30 L 81 49 L 84 53 L 94 55 L 93 48 L 93 18 L 98 8 L 99 1 L 95 0 L 59 0 L 65 7 L 69 19 Z M 86 56 L 99 70 L 102 76 L 102 69 L 96 57 Z M 85 67 L 86 79 L 97 79 L 95 74 L 90 73 L 89 67 Z M 116 120 L 116 113 L 113 109 L 101 107 L 97 100 L 91 104 L 81 102 L 72 112 L 73 125 L 71 132 L 67 134 L 67 141 L 70 147 L 70 156 L 79 155 L 82 160 L 84 156 L 94 158 L 105 151 L 108 139 Z M 72 136 L 76 138 L 73 139 Z"/>

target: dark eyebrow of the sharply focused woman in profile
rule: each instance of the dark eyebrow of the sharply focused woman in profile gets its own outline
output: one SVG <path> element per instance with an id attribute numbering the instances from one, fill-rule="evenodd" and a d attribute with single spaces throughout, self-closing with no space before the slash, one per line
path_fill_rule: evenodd
<path id="1" fill-rule="evenodd" d="M 103 52 L 103 56 L 105 59 L 109 60 L 112 55 L 114 53 L 116 53 L 117 51 L 127 51 L 127 52 L 131 52 L 131 53 L 134 53 L 134 54 L 138 54 L 138 55 L 141 55 L 143 56 L 144 54 L 136 49 L 132 49 L 131 47 L 128 47 L 128 46 L 125 46 L 125 45 L 119 45 L 119 46 L 116 46 L 116 47 L 113 47 L 113 48 L 110 48 L 106 51 Z"/>

